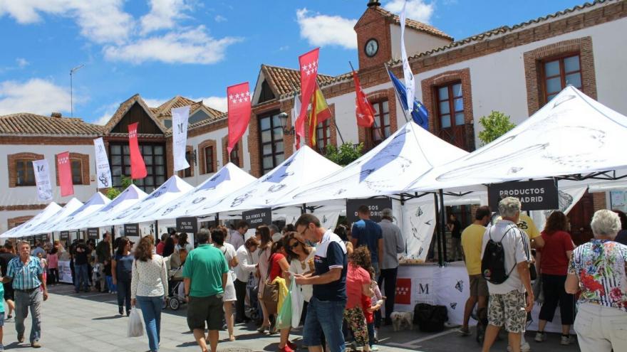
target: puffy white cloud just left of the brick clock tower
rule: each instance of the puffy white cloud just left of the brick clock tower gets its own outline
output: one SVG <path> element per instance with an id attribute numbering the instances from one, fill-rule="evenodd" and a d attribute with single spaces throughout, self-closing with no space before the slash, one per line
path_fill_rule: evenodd
<path id="1" fill-rule="evenodd" d="M 357 48 L 357 34 L 353 30 L 356 19 L 321 14 L 309 16 L 307 9 L 299 9 L 296 20 L 301 28 L 301 37 L 312 46 Z"/>

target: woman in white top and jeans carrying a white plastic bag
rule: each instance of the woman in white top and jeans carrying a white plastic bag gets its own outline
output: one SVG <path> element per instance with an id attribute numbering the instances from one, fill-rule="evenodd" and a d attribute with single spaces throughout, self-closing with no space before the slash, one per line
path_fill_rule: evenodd
<path id="1" fill-rule="evenodd" d="M 130 282 L 130 304 L 142 309 L 150 352 L 159 351 L 161 309 L 167 293 L 167 269 L 163 257 L 155 252 L 152 236 L 140 240 L 135 248 L 133 275 Z"/>

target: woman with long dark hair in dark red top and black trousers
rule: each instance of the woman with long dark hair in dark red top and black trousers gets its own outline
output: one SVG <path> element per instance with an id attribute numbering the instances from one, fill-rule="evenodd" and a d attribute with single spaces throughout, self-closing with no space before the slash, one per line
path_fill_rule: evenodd
<path id="1" fill-rule="evenodd" d="M 536 263 L 542 280 L 544 303 L 540 309 L 538 332 L 535 340 L 546 340 L 544 327 L 546 321 L 553 321 L 555 309 L 559 305 L 561 314 L 561 344 L 571 341 L 571 325 L 575 319 L 575 297 L 567 294 L 564 288 L 568 265 L 575 245 L 568 231 L 569 221 L 561 211 L 554 211 L 546 219 L 542 239 L 544 247 L 536 251 Z"/>

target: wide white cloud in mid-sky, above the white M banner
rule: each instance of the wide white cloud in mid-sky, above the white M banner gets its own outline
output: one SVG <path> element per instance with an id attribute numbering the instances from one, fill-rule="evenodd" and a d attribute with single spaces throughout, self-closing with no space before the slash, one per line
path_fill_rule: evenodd
<path id="1" fill-rule="evenodd" d="M 224 58 L 227 47 L 240 41 L 239 38 L 212 38 L 204 26 L 180 32 L 169 32 L 163 36 L 140 38 L 134 43 L 121 46 L 105 46 L 105 58 L 113 61 L 144 63 L 217 63 Z"/>

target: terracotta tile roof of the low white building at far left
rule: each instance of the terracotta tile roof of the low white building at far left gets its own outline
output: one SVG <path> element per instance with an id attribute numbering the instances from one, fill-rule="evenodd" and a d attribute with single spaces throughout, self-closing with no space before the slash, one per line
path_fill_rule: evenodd
<path id="1" fill-rule="evenodd" d="M 103 127 L 76 117 L 47 117 L 28 112 L 0 116 L 0 134 L 98 136 Z"/>

